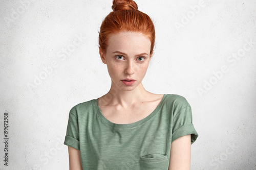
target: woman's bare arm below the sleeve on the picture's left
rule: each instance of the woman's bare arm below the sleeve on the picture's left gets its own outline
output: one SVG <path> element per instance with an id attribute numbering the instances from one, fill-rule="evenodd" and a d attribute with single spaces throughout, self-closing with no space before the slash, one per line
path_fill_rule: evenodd
<path id="1" fill-rule="evenodd" d="M 70 170 L 81 170 L 82 169 L 82 162 L 80 151 L 68 146 L 69 150 L 69 169 Z"/>

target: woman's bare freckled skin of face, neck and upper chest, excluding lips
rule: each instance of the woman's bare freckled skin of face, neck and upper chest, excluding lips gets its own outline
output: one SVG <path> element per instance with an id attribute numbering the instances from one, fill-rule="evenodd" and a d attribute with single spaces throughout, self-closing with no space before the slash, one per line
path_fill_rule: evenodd
<path id="1" fill-rule="evenodd" d="M 111 35 L 106 53 L 100 51 L 112 82 L 110 91 L 98 102 L 102 114 L 111 122 L 137 122 L 152 113 L 161 102 L 163 94 L 148 92 L 141 83 L 151 60 L 150 51 L 150 39 L 135 32 Z M 121 81 L 124 79 L 135 81 L 129 84 Z"/>

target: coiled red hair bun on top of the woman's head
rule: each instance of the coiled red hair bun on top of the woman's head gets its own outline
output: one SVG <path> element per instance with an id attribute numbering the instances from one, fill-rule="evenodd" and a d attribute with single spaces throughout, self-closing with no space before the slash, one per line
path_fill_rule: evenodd
<path id="1" fill-rule="evenodd" d="M 113 11 L 119 10 L 138 10 L 137 4 L 132 0 L 114 0 L 112 5 Z"/>

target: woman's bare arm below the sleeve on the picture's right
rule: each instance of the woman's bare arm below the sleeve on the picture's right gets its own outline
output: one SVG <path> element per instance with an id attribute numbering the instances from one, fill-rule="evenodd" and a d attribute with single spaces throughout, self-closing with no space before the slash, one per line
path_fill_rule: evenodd
<path id="1" fill-rule="evenodd" d="M 190 169 L 191 134 L 175 139 L 170 147 L 168 170 Z"/>

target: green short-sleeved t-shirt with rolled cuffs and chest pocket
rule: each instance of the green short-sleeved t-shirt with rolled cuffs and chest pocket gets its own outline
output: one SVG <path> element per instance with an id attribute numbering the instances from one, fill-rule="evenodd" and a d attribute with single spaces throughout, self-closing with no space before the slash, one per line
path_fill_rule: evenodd
<path id="1" fill-rule="evenodd" d="M 80 150 L 86 170 L 167 170 L 172 141 L 188 134 L 194 143 L 198 133 L 183 96 L 164 94 L 150 115 L 132 124 L 110 122 L 94 99 L 70 110 L 64 144 Z"/>

